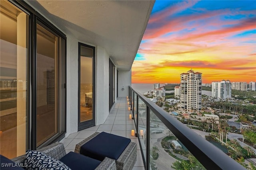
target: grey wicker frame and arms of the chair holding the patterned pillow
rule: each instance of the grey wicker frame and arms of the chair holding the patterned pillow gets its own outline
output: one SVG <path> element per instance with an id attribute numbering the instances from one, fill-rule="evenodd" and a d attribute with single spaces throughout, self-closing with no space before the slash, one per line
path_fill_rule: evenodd
<path id="1" fill-rule="evenodd" d="M 38 149 L 38 151 L 57 160 L 60 160 L 60 158 L 66 155 L 66 150 L 63 143 L 59 142 Z M 25 155 L 21 155 L 13 158 L 12 161 L 14 161 L 15 163 L 24 163 L 24 159 Z M 116 170 L 116 162 L 115 160 L 106 157 L 96 168 L 96 170 Z"/>

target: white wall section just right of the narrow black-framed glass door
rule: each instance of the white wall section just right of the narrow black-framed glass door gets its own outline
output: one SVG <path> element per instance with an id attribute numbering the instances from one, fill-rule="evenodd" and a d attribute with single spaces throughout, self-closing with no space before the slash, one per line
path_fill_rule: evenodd
<path id="1" fill-rule="evenodd" d="M 104 123 L 109 111 L 109 55 L 100 46 L 96 48 L 96 122 Z"/>

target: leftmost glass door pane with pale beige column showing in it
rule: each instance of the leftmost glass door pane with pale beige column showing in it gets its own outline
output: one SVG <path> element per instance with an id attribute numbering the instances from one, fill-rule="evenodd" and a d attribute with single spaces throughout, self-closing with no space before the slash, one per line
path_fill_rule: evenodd
<path id="1" fill-rule="evenodd" d="M 0 21 L 0 154 L 14 158 L 28 142 L 28 15 L 1 0 Z"/>

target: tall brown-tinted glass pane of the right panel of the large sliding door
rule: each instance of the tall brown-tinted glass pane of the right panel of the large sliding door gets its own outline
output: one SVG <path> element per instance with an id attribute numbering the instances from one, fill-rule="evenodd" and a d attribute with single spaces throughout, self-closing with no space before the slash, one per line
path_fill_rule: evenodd
<path id="1" fill-rule="evenodd" d="M 36 25 L 36 145 L 58 132 L 58 37 Z"/>

